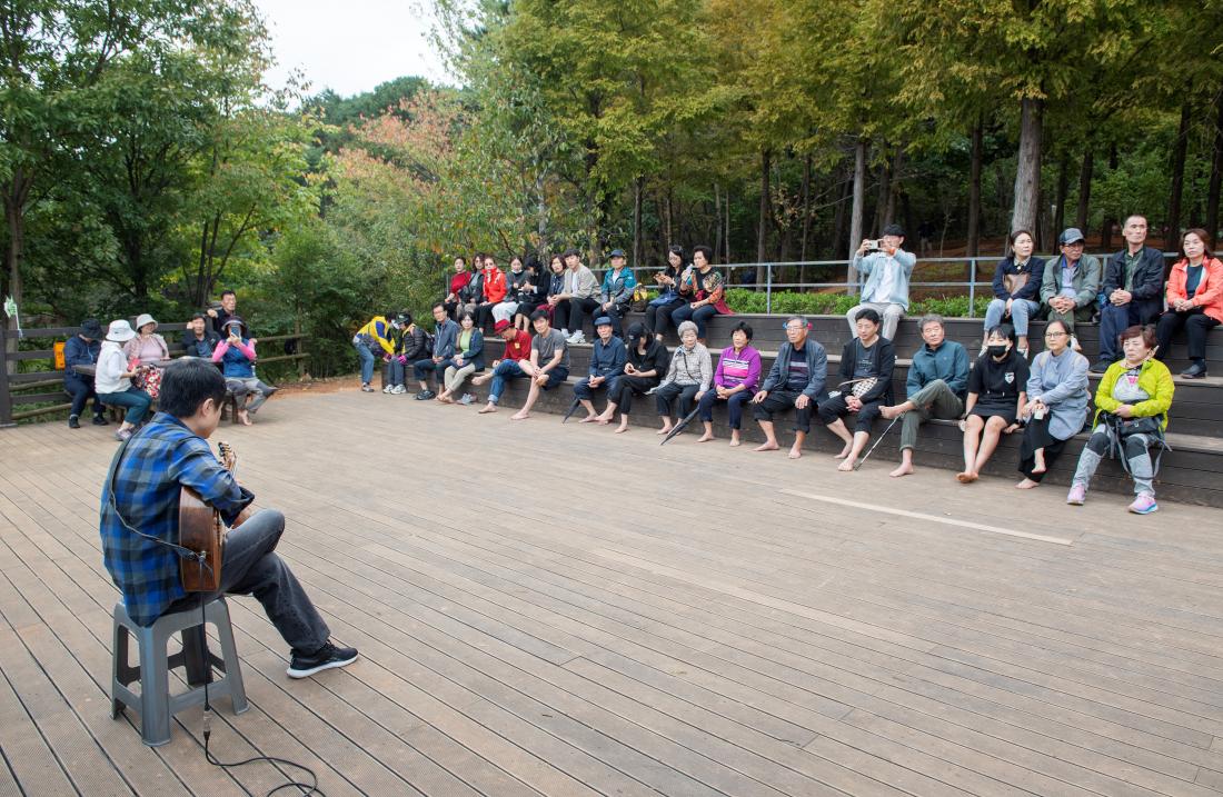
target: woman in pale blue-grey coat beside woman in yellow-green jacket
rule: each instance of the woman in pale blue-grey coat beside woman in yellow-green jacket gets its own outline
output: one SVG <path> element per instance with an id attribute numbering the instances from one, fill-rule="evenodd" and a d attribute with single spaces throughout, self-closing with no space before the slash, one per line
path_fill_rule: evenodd
<path id="1" fill-rule="evenodd" d="M 1044 351 L 1032 359 L 1027 403 L 1019 413 L 1026 422 L 1019 454 L 1021 490 L 1038 487 L 1062 456 L 1066 440 L 1087 419 L 1087 358 L 1070 348 L 1070 328 L 1060 319 L 1044 325 Z"/>

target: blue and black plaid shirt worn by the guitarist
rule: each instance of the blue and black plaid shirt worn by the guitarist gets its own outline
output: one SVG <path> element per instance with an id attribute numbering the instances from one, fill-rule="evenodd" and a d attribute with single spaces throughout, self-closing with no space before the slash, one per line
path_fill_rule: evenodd
<path id="1" fill-rule="evenodd" d="M 125 528 L 127 523 L 152 537 L 179 542 L 179 489 L 193 488 L 220 510 L 226 523 L 254 500 L 238 485 L 208 443 L 174 416 L 159 412 L 111 463 L 114 479 L 102 490 L 103 561 L 115 586 L 124 593 L 127 614 L 141 626 L 150 626 L 175 600 L 186 597 L 179 576 L 179 555 Z M 110 490 L 115 488 L 115 506 Z"/>

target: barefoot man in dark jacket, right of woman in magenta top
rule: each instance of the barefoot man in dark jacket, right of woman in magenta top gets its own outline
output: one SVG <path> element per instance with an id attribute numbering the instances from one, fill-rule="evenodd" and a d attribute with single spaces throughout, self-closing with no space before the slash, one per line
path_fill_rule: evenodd
<path id="1" fill-rule="evenodd" d="M 807 336 L 808 330 L 807 319 L 801 315 L 785 320 L 785 342 L 778 350 L 759 392 L 752 396 L 752 414 L 764 433 L 764 443 L 756 446 L 756 451 L 777 451 L 780 447 L 773 424 L 779 413 L 793 408 L 795 429 L 790 458 L 802 456 L 802 443 L 811 432 L 811 414 L 823 397 L 828 380 L 828 354 L 819 341 Z"/>

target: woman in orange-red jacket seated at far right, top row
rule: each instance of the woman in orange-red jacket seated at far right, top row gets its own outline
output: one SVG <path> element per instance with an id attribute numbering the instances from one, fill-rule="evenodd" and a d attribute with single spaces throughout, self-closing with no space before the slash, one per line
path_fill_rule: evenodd
<path id="1" fill-rule="evenodd" d="M 1206 375 L 1206 335 L 1223 321 L 1223 263 L 1211 254 L 1206 230 L 1185 230 L 1180 237 L 1180 260 L 1168 275 L 1168 309 L 1159 317 L 1156 357 L 1167 359 L 1172 336 L 1185 329 L 1190 365 L 1180 375 Z"/>

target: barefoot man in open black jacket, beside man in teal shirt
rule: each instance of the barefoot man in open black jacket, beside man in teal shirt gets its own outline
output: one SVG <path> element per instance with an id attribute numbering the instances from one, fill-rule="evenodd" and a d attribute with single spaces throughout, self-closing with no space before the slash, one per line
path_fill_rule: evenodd
<path id="1" fill-rule="evenodd" d="M 879 414 L 879 407 L 892 397 L 892 370 L 896 354 L 892 341 L 879 335 L 879 313 L 866 308 L 857 314 L 857 337 L 841 350 L 841 384 L 835 395 L 819 402 L 819 419 L 845 443 L 837 455 L 844 460 L 838 471 L 850 472 L 857 466 L 857 457 L 871 439 L 871 423 Z M 850 436 L 845 416 L 856 416 L 854 435 Z"/>

